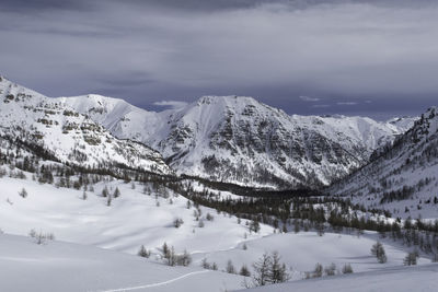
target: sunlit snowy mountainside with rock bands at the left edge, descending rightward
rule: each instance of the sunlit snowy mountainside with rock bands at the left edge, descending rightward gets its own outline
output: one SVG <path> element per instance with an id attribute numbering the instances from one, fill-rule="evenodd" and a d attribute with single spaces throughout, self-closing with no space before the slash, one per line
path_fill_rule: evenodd
<path id="1" fill-rule="evenodd" d="M 0 109 L 1 137 L 36 147 L 62 163 L 172 173 L 157 151 L 119 140 L 76 109 L 5 78 L 0 78 Z"/>

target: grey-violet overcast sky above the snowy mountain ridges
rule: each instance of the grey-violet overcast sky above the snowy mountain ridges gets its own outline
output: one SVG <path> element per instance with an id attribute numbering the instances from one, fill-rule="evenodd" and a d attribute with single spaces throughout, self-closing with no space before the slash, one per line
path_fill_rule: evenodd
<path id="1" fill-rule="evenodd" d="M 438 105 L 434 0 L 0 0 L 0 74 L 150 110 L 244 95 L 301 115 Z"/>

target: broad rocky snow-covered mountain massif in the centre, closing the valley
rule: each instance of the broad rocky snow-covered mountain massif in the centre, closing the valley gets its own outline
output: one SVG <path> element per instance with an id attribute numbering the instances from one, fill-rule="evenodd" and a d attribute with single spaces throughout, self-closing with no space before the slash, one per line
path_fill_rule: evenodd
<path id="1" fill-rule="evenodd" d="M 100 95 L 58 101 L 118 138 L 160 151 L 178 173 L 250 186 L 328 185 L 413 124 L 412 118 L 289 116 L 241 96 L 204 96 L 161 113 Z"/>

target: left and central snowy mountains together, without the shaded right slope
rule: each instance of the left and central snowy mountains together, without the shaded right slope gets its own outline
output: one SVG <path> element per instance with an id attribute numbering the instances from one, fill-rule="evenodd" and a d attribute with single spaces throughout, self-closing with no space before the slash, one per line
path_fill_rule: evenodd
<path id="1" fill-rule="evenodd" d="M 203 96 L 157 113 L 95 94 L 50 98 L 5 78 L 0 98 L 1 133 L 62 162 L 283 189 L 348 176 L 417 119 L 288 115 L 245 96 Z"/>

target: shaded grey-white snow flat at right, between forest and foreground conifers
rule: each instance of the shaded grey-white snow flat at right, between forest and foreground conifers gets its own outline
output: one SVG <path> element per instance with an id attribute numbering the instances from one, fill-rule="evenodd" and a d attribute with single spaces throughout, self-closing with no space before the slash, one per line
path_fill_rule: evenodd
<path id="1" fill-rule="evenodd" d="M 385 264 L 378 264 L 376 257 L 370 255 L 371 246 L 376 241 L 383 243 L 388 256 Z M 247 249 L 243 249 L 243 244 Z M 306 277 L 307 271 L 314 269 L 316 262 L 324 267 L 333 262 L 338 270 L 345 264 L 350 264 L 355 272 L 403 266 L 406 250 L 408 248 L 392 241 L 382 241 L 373 232 L 366 232 L 360 237 L 336 233 L 325 233 L 323 236 L 319 236 L 315 232 L 300 232 L 298 234 L 272 234 L 250 240 L 233 249 L 194 254 L 194 259 L 206 258 L 207 261 L 215 261 L 219 266 L 226 266 L 230 259 L 238 268 L 246 265 L 252 270 L 252 264 L 264 253 L 278 252 L 281 260 L 287 265 L 292 280 L 300 280 Z M 418 259 L 419 265 L 428 262 L 430 259 Z"/>

